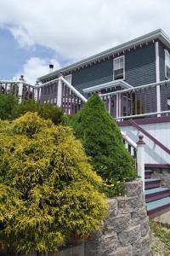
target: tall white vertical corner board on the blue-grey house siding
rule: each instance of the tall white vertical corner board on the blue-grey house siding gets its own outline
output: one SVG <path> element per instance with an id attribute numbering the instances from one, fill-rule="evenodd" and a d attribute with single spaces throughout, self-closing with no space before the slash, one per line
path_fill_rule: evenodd
<path id="1" fill-rule="evenodd" d="M 159 59 L 159 42 L 156 42 L 156 83 L 160 82 L 160 59 Z M 156 107 L 157 112 L 161 112 L 160 85 L 156 85 Z M 158 113 L 157 116 L 160 116 Z"/>

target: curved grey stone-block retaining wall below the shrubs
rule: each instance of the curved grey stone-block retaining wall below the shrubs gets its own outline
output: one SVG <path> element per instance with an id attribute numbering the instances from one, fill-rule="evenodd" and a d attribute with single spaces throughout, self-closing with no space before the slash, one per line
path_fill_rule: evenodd
<path id="1" fill-rule="evenodd" d="M 142 183 L 126 183 L 125 188 L 126 196 L 108 199 L 108 217 L 100 231 L 48 256 L 149 256 L 150 226 Z"/>

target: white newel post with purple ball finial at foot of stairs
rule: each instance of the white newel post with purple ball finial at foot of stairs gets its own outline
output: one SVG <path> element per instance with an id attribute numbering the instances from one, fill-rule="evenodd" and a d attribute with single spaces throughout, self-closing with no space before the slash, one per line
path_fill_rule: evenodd
<path id="1" fill-rule="evenodd" d="M 143 191 L 144 191 L 144 141 L 143 136 L 139 135 L 139 141 L 137 143 L 137 171 L 138 176 L 141 177 L 143 182 Z"/>

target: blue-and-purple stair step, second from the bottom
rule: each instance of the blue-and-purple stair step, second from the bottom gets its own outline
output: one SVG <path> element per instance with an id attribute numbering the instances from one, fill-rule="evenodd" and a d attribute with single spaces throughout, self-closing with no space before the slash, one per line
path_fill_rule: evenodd
<path id="1" fill-rule="evenodd" d="M 144 191 L 145 201 L 156 201 L 161 198 L 170 196 L 169 188 L 156 188 L 156 189 L 146 189 Z"/>

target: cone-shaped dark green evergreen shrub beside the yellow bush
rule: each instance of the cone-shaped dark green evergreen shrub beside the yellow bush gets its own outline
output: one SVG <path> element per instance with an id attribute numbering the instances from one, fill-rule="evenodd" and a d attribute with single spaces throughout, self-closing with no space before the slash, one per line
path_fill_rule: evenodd
<path id="1" fill-rule="evenodd" d="M 133 159 L 124 148 L 120 129 L 97 94 L 71 119 L 71 126 L 91 157 L 94 170 L 105 179 L 105 191 L 119 195 L 122 183 L 136 176 Z"/>

